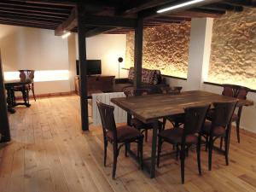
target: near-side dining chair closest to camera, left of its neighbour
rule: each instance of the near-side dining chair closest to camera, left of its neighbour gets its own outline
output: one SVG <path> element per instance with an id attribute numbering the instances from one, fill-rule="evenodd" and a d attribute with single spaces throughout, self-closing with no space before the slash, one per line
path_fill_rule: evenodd
<path id="1" fill-rule="evenodd" d="M 201 107 L 185 108 L 185 121 L 184 128 L 175 127 L 173 129 L 168 129 L 161 131 L 158 135 L 158 155 L 157 155 L 157 166 L 160 164 L 160 153 L 162 148 L 162 143 L 167 142 L 175 146 L 180 146 L 180 160 L 181 160 L 181 178 L 182 183 L 184 183 L 184 160 L 187 148 L 192 144 L 196 144 L 197 153 L 197 164 L 198 171 L 201 175 L 201 127 L 205 122 L 207 111 L 210 105 L 205 105 Z"/>

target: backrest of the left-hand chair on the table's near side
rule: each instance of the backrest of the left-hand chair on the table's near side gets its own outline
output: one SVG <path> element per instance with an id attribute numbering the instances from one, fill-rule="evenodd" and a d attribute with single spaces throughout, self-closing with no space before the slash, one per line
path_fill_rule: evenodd
<path id="1" fill-rule="evenodd" d="M 210 108 L 210 104 L 185 108 L 185 124 L 184 124 L 184 137 L 190 134 L 196 134 L 201 132 L 201 128 L 207 118 L 207 112 Z"/>

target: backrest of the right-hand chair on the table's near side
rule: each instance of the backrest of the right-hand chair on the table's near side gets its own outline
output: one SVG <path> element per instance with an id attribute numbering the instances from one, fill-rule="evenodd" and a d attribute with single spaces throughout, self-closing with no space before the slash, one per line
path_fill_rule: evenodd
<path id="1" fill-rule="evenodd" d="M 212 127 L 222 126 L 228 128 L 236 108 L 235 102 L 214 102 L 214 113 L 212 116 Z"/>

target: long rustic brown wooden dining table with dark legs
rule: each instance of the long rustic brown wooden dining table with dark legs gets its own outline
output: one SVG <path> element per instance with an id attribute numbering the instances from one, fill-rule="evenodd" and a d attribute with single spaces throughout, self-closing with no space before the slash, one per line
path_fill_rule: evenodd
<path id="1" fill-rule="evenodd" d="M 158 120 L 170 115 L 184 113 L 184 108 L 212 104 L 212 102 L 232 102 L 236 98 L 222 96 L 202 90 L 184 91 L 178 95 L 155 94 L 147 96 L 131 96 L 112 98 L 111 102 L 127 112 L 127 124 L 130 124 L 131 115 L 143 121 L 153 123 L 153 136 L 151 146 L 150 166 L 148 172 L 150 177 L 155 176 L 156 143 Z M 238 106 L 251 106 L 253 102 L 239 100 Z"/>

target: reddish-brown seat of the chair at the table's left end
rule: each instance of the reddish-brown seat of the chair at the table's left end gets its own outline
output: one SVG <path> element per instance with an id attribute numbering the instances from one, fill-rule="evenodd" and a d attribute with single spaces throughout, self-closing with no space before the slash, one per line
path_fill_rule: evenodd
<path id="1" fill-rule="evenodd" d="M 116 131 L 117 131 L 117 139 L 119 143 L 130 142 L 130 141 L 137 140 L 140 137 L 143 137 L 143 134 L 140 131 L 137 131 L 137 129 L 128 125 L 119 126 L 116 128 Z M 108 131 L 107 137 L 111 141 L 113 141 L 113 132 Z"/>

